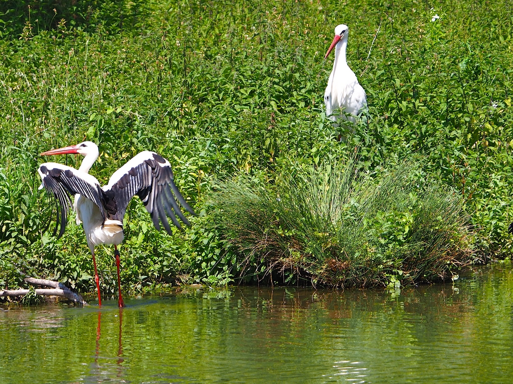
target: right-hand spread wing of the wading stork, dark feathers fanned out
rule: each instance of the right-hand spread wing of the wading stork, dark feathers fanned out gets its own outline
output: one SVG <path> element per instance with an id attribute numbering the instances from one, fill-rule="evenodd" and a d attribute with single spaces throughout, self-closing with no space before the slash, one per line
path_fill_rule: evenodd
<path id="1" fill-rule="evenodd" d="M 173 181 L 171 164 L 154 152 L 141 152 L 116 170 L 103 187 L 105 208 L 109 219 L 123 222 L 128 203 L 139 196 L 151 215 L 155 228 L 160 229 L 159 220 L 171 234 L 167 218 L 182 229 L 177 217 L 190 226 L 180 205 L 194 215 Z M 180 204 L 180 205 L 179 205 Z"/>

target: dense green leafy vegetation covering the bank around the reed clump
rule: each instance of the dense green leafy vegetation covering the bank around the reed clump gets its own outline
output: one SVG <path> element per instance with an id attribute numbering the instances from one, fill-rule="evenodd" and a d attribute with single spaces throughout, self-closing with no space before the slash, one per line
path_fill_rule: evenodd
<path id="1" fill-rule="evenodd" d="M 392 264 L 379 279 L 350 284 L 435 280 L 437 273 L 419 274 L 416 267 L 403 278 L 404 240 L 397 237 L 401 228 L 409 232 L 410 209 L 421 218 L 418 209 L 428 201 L 446 204 L 441 209 L 453 222 L 443 236 L 459 244 L 455 251 L 464 258 L 458 263 L 470 261 L 469 249 L 477 261 L 509 255 L 510 2 L 443 1 L 436 9 L 425 2 L 370 0 L 29 3 L 0 7 L 0 287 L 14 288 L 29 274 L 93 289 L 83 230 L 70 224 L 62 239 L 51 237 L 52 206 L 38 191 L 36 175 L 45 161 L 39 153 L 84 139 L 100 146 L 91 173 L 101 182 L 139 151 L 161 153 L 201 214 L 191 229 L 168 237 L 154 230 L 140 202 L 131 203 L 121 252 L 122 279 L 132 292 L 174 281 L 225 284 L 241 271 L 247 279 L 269 277 L 276 255 L 265 259 L 266 252 L 250 251 L 248 259 L 247 246 L 233 241 L 239 224 L 230 212 L 221 215 L 226 204 L 233 206 L 230 186 L 240 192 L 236 199 L 248 185 L 264 185 L 253 193 L 267 199 L 265 209 L 272 212 L 283 205 L 269 198 L 283 195 L 284 187 L 309 174 L 319 180 L 325 167 L 340 170 L 336 180 L 349 169 L 342 163 L 361 175 L 357 191 L 373 190 L 387 173 L 407 172 L 410 180 L 393 182 L 408 192 L 392 199 L 397 205 L 369 205 L 377 215 L 366 221 L 365 236 L 368 230 L 384 236 Z M 367 92 L 370 116 L 342 143 L 334 140 L 322 100 L 332 65 L 323 54 L 340 23 L 349 26 L 348 61 Z M 401 165 L 404 159 L 415 166 Z M 75 165 L 81 159 L 60 161 Z M 355 196 L 344 200 L 345 219 L 351 204 L 364 199 Z M 269 224 L 281 230 L 280 223 Z M 419 233 L 408 236 L 408 247 L 423 247 Z M 310 240 L 308 246 L 322 245 L 319 236 Z M 382 255 L 380 246 L 369 257 Z M 284 249 L 297 258 L 305 246 Z M 98 249 L 103 289 L 110 292 L 111 255 L 109 247 Z M 285 264 L 279 265 L 280 280 L 314 272 L 305 267 L 295 273 L 304 264 L 293 263 L 284 271 Z M 367 269 L 373 271 L 379 272 Z M 450 268 L 441 271 L 450 276 Z"/>

